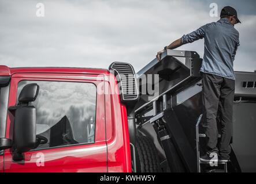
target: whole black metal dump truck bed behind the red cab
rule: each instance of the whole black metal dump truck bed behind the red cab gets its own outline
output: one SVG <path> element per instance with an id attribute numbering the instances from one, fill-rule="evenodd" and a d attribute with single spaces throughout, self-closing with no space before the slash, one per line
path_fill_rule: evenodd
<path id="1" fill-rule="evenodd" d="M 197 172 L 196 122 L 202 114 L 202 59 L 194 51 L 166 50 L 160 62 L 154 59 L 136 76 L 140 98 L 136 104 L 137 129 L 154 141 L 164 171 Z M 159 85 L 154 83 L 158 74 Z M 236 71 L 233 104 L 233 136 L 229 172 L 256 171 L 256 72 Z M 146 80 L 146 82 L 145 82 Z M 153 85 L 152 95 L 147 85 Z M 145 86 L 146 85 L 146 86 Z M 151 85 L 150 85 L 151 86 Z M 202 119 L 203 122 L 203 119 Z M 203 134 L 202 122 L 199 133 Z M 218 122 L 220 124 L 220 122 Z M 200 155 L 205 147 L 200 138 Z M 222 166 L 202 166 L 202 171 L 218 171 Z"/>

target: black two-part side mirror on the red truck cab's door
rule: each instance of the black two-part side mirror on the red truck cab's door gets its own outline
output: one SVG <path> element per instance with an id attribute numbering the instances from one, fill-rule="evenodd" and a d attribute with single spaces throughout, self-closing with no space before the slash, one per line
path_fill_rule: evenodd
<path id="1" fill-rule="evenodd" d="M 36 109 L 30 105 L 38 96 L 39 86 L 31 83 L 23 87 L 15 110 L 13 134 L 13 160 L 22 160 L 23 153 L 34 148 L 36 143 Z"/>

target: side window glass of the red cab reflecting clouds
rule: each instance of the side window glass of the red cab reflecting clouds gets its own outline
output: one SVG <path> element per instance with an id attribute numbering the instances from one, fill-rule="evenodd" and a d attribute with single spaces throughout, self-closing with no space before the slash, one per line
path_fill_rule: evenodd
<path id="1" fill-rule="evenodd" d="M 97 95 L 94 84 L 21 81 L 17 94 L 28 83 L 39 85 L 38 97 L 32 102 L 36 108 L 36 134 L 48 139 L 37 148 L 94 143 Z"/>

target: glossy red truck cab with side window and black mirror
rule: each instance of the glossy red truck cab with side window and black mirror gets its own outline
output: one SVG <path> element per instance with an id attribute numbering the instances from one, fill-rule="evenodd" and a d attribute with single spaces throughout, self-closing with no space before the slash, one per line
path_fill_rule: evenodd
<path id="1" fill-rule="evenodd" d="M 0 172 L 131 172 L 116 89 L 105 69 L 0 66 Z"/>

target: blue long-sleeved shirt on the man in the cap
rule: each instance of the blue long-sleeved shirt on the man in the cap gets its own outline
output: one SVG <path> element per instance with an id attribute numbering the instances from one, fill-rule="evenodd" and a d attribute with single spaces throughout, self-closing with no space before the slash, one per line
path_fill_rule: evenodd
<path id="1" fill-rule="evenodd" d="M 205 39 L 205 51 L 200 71 L 235 80 L 233 61 L 239 46 L 238 30 L 227 18 L 221 18 L 194 32 L 184 34 L 181 42 L 192 43 L 202 38 Z"/>

